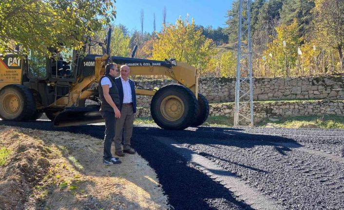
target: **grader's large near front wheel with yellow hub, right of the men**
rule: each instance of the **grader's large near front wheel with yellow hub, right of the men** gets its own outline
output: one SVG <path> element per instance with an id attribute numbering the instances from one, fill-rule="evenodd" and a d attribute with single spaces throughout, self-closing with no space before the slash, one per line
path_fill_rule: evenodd
<path id="1" fill-rule="evenodd" d="M 197 114 L 197 99 L 183 85 L 166 85 L 153 96 L 151 114 L 161 128 L 183 130 L 191 125 Z"/>

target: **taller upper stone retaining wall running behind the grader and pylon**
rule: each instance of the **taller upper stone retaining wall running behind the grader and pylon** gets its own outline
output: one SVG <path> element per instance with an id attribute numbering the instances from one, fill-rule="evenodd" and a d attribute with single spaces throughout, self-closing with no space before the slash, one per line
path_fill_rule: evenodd
<path id="1" fill-rule="evenodd" d="M 136 81 L 138 88 L 153 89 L 171 84 L 172 80 Z M 199 78 L 199 92 L 210 103 L 231 102 L 235 98 L 235 78 Z M 244 87 L 248 88 L 248 86 Z M 149 107 L 151 96 L 137 96 L 138 106 Z M 253 78 L 253 100 L 344 99 L 344 77 Z"/>

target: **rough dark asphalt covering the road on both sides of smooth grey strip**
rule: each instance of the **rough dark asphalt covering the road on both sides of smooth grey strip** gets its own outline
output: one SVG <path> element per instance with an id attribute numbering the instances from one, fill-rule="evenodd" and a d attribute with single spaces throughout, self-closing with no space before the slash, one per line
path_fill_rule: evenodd
<path id="1" fill-rule="evenodd" d="M 0 122 L 103 138 L 103 125 L 53 128 L 51 122 Z M 185 209 L 251 209 L 247 201 L 161 142 L 170 138 L 234 174 L 285 209 L 344 209 L 344 130 L 135 126 L 132 146 L 158 175 L 170 204 Z M 101 154 L 99 154 L 101 155 Z"/>

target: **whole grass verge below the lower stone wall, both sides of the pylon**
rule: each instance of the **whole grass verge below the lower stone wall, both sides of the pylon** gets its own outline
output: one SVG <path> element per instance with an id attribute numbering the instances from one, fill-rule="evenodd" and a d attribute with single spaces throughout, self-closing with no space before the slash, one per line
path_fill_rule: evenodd
<path id="1" fill-rule="evenodd" d="M 271 120 L 273 119 L 273 120 Z M 134 124 L 155 124 L 152 117 L 136 117 Z M 210 116 L 203 123 L 204 126 L 231 127 L 233 118 L 228 116 Z M 307 115 L 293 117 L 268 117 L 255 123 L 255 127 L 281 128 L 325 128 L 344 129 L 344 117 L 338 115 Z"/>

